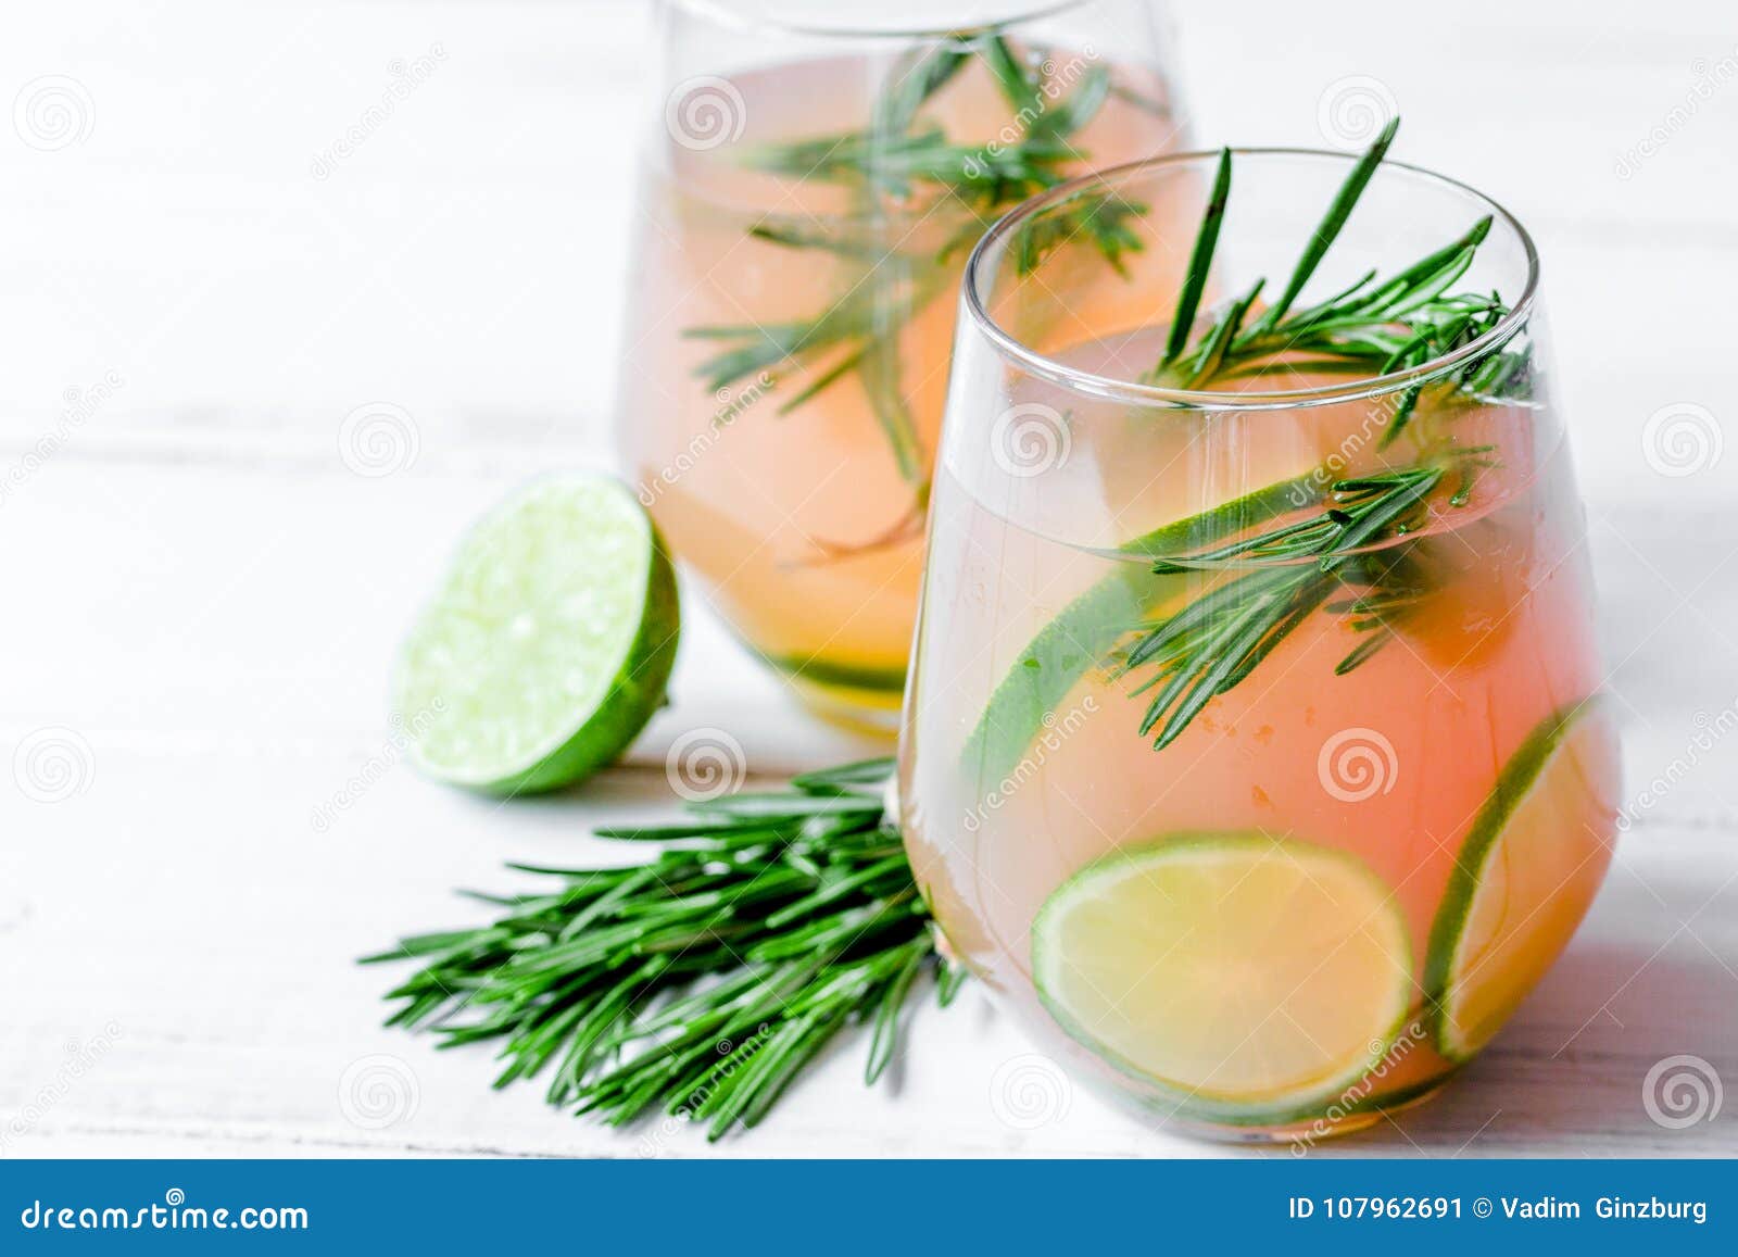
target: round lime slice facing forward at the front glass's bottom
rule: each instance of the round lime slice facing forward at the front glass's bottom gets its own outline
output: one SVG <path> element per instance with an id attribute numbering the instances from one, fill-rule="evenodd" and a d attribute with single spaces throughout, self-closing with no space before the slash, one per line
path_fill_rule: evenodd
<path id="1" fill-rule="evenodd" d="M 1283 1125 L 1387 1052 L 1413 998 L 1406 921 L 1356 857 L 1260 833 L 1105 855 L 1032 923 L 1051 1015 L 1178 1111 Z"/>

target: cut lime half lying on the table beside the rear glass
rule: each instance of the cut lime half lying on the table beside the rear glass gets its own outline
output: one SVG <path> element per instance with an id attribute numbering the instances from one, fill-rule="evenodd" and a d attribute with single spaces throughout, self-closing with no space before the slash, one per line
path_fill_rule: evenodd
<path id="1" fill-rule="evenodd" d="M 395 708 L 431 777 L 492 795 L 568 786 L 664 701 L 669 558 L 617 480 L 544 480 L 459 546 L 398 661 Z"/>

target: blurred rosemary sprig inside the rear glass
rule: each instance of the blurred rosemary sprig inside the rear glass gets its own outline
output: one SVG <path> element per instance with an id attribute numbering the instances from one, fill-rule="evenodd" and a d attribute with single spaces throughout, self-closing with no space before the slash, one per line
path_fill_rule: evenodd
<path id="1" fill-rule="evenodd" d="M 939 125 L 921 122 L 930 99 L 973 61 L 994 78 L 1020 123 L 1017 141 L 965 144 L 951 141 Z M 1109 70 L 1088 68 L 1060 99 L 1051 99 L 1046 87 L 1034 59 L 1022 56 L 1001 33 L 959 31 L 918 52 L 892 75 L 867 127 L 751 150 L 744 156 L 751 169 L 841 184 L 850 190 L 857 212 L 841 229 L 817 231 L 765 219 L 749 235 L 787 249 L 852 259 L 862 269 L 848 276 L 841 297 L 810 318 L 768 327 L 688 329 L 685 336 L 721 344 L 695 374 L 718 391 L 760 372 L 812 370 L 808 384 L 784 402 L 779 414 L 791 414 L 855 376 L 900 476 L 912 487 L 914 511 L 921 515 L 928 501 L 928 456 L 905 400 L 897 337 L 911 318 L 951 290 L 952 264 L 989 221 L 1057 186 L 1065 177 L 1064 169 L 1086 156 L 1072 144 L 1072 136 L 1109 99 L 1114 87 Z M 888 238 L 890 224 L 902 221 L 897 210 L 909 209 L 919 196 L 952 202 L 965 212 L 959 228 L 932 252 L 905 250 Z M 1123 271 L 1124 256 L 1142 247 L 1130 219 L 1144 212 L 1145 205 L 1111 193 L 1085 196 L 1025 224 L 1013 242 L 1013 256 L 1025 273 L 1060 243 L 1079 236 Z M 907 532 L 895 529 L 890 535 Z"/>

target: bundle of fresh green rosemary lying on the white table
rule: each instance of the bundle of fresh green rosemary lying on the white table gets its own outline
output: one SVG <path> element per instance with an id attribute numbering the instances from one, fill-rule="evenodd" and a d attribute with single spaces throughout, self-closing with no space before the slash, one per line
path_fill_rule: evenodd
<path id="1" fill-rule="evenodd" d="M 362 961 L 421 963 L 388 993 L 388 1024 L 499 1041 L 495 1087 L 547 1073 L 549 1104 L 612 1127 L 664 1111 L 709 1139 L 756 1125 L 846 1026 L 871 1028 L 874 1083 L 916 981 L 933 974 L 944 1005 L 963 981 L 883 814 L 890 772 L 845 765 L 598 831 L 659 843 L 641 864 L 511 864 L 553 885 L 473 895 L 502 914 Z"/>

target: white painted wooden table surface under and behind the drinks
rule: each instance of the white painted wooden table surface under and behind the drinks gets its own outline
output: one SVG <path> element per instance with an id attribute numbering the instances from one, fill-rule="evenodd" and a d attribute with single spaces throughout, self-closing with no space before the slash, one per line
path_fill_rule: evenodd
<path id="1" fill-rule="evenodd" d="M 1738 449 L 1715 445 L 1738 21 L 1397 12 L 1185 0 L 1197 132 L 1319 144 L 1350 80 L 1399 104 L 1404 156 L 1535 228 L 1637 822 L 1496 1045 L 1326 1154 L 1733 1154 L 1738 1094 L 1672 1128 L 1644 1080 L 1693 1055 L 1738 1088 Z M 485 1052 L 377 1029 L 389 974 L 351 965 L 473 913 L 450 890 L 502 861 L 647 814 L 687 728 L 765 774 L 867 749 L 690 607 L 674 708 L 582 793 L 497 807 L 396 765 L 386 666 L 454 537 L 527 475 L 608 461 L 638 5 L 73 0 L 7 24 L 0 97 L 52 89 L 73 130 L 0 120 L 0 1153 L 706 1153 L 490 1092 Z M 367 476 L 339 431 L 377 402 L 415 449 Z M 1662 424 L 1703 438 L 1686 475 L 1644 459 Z M 977 991 L 911 1041 L 893 1087 L 866 1092 L 846 1043 L 711 1154 L 1227 1151 L 1085 1092 L 1010 1121 L 996 1080 L 1029 1048 Z"/>

